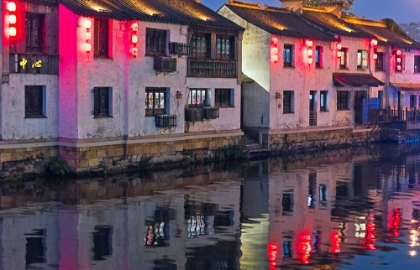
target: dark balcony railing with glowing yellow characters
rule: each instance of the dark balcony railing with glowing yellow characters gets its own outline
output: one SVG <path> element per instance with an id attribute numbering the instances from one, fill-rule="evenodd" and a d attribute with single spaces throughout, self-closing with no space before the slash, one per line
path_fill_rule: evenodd
<path id="1" fill-rule="evenodd" d="M 58 74 L 59 56 L 11 53 L 10 73 Z"/>

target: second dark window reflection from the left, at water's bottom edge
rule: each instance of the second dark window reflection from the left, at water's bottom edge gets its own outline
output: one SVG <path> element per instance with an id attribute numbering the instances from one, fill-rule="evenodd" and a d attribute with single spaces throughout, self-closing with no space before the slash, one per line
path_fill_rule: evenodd
<path id="1" fill-rule="evenodd" d="M 93 234 L 93 259 L 104 261 L 105 256 L 112 255 L 112 228 L 96 226 Z"/>

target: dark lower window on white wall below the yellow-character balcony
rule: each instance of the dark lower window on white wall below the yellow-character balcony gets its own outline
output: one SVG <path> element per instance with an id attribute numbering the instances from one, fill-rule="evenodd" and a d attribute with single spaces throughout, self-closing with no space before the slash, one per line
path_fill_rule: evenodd
<path id="1" fill-rule="evenodd" d="M 25 86 L 25 117 L 44 117 L 44 87 Z"/>

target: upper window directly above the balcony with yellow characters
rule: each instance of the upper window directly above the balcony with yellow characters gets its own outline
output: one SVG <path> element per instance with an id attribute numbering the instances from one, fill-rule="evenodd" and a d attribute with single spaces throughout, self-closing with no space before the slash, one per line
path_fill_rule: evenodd
<path id="1" fill-rule="evenodd" d="M 42 52 L 44 15 L 26 13 L 26 51 Z"/>

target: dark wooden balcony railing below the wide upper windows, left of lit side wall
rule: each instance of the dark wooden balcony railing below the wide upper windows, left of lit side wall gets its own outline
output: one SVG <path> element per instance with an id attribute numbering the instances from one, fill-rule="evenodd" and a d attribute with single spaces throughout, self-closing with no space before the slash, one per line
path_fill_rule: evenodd
<path id="1" fill-rule="evenodd" d="M 188 58 L 188 77 L 236 78 L 237 62 Z"/>

